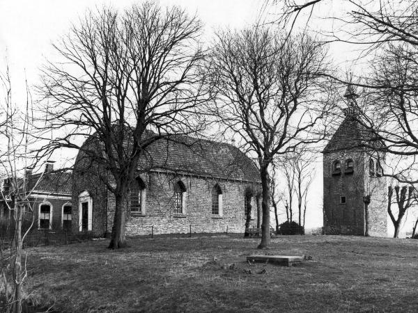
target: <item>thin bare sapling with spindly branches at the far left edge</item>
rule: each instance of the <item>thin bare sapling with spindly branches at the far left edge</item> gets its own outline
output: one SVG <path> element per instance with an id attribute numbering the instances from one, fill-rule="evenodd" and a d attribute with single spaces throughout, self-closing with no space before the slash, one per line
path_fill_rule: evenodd
<path id="1" fill-rule="evenodd" d="M 31 96 L 26 82 L 26 104 L 15 104 L 13 101 L 12 82 L 8 67 L 4 75 L 0 74 L 1 86 L 4 98 L 0 102 L 0 116 L 3 121 L 0 123 L 0 138 L 5 147 L 0 154 L 0 179 L 4 186 L 0 190 L 0 210 L 8 210 L 8 218 L 1 220 L 2 225 L 8 223 L 8 232 L 13 232 L 10 255 L 3 255 L 3 246 L 0 245 L 2 259 L 0 262 L 10 262 L 10 266 L 4 266 L 1 270 L 1 278 L 4 282 L 6 300 L 8 306 L 6 312 L 22 312 L 23 283 L 27 276 L 26 253 L 23 250 L 23 243 L 31 231 L 34 223 L 32 203 L 29 202 L 31 193 L 28 184 L 28 168 L 36 166 L 37 160 L 31 156 L 34 125 Z M 6 185 L 6 186 L 5 186 Z M 36 186 L 36 182 L 34 184 Z M 29 217 L 30 218 L 29 218 Z M 23 225 L 24 220 L 27 224 Z M 25 227 L 24 227 L 25 226 Z M 6 236 L 8 236 L 6 232 Z M 11 269 L 11 281 L 13 292 L 8 294 L 8 269 Z"/>

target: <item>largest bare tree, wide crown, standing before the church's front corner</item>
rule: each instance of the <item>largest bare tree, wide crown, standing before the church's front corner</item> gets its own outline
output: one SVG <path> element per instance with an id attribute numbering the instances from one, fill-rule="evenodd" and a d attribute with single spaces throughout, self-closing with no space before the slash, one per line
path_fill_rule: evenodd
<path id="1" fill-rule="evenodd" d="M 123 13 L 104 8 L 72 26 L 54 45 L 63 61 L 43 70 L 47 130 L 61 134 L 52 149 L 80 150 L 108 173 L 100 179 L 116 198 L 109 248 L 126 244 L 128 188 L 146 147 L 203 127 L 200 34 L 199 19 L 178 7 L 148 1 Z M 79 145 L 86 135 L 99 148 Z"/>

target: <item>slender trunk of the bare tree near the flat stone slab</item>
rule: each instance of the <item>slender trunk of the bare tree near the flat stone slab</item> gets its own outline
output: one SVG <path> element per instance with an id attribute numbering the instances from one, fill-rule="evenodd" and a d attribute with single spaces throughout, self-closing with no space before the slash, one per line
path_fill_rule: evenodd
<path id="1" fill-rule="evenodd" d="M 258 249 L 270 246 L 270 175 L 268 174 L 268 164 L 263 164 L 260 169 L 263 223 L 261 224 L 261 243 Z"/>

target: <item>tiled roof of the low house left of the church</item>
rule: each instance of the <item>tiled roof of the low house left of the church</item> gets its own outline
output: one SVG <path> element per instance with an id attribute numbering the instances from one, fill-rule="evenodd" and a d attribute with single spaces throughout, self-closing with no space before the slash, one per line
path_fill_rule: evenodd
<path id="1" fill-rule="evenodd" d="M 27 191 L 33 193 L 71 194 L 71 172 L 54 170 L 29 176 Z"/>

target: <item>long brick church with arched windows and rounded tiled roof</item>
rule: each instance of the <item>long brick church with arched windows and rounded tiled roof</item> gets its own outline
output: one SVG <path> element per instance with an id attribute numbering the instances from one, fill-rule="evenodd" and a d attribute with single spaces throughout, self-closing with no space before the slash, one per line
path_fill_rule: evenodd
<path id="1" fill-rule="evenodd" d="M 82 152 L 94 144 L 91 136 L 75 161 L 72 227 L 102 236 L 111 232 L 115 199 L 103 182 L 111 182 L 105 168 Z M 126 234 L 244 232 L 249 205 L 254 225 L 260 188 L 254 162 L 233 145 L 189 136 L 160 139 L 139 159 Z"/>

